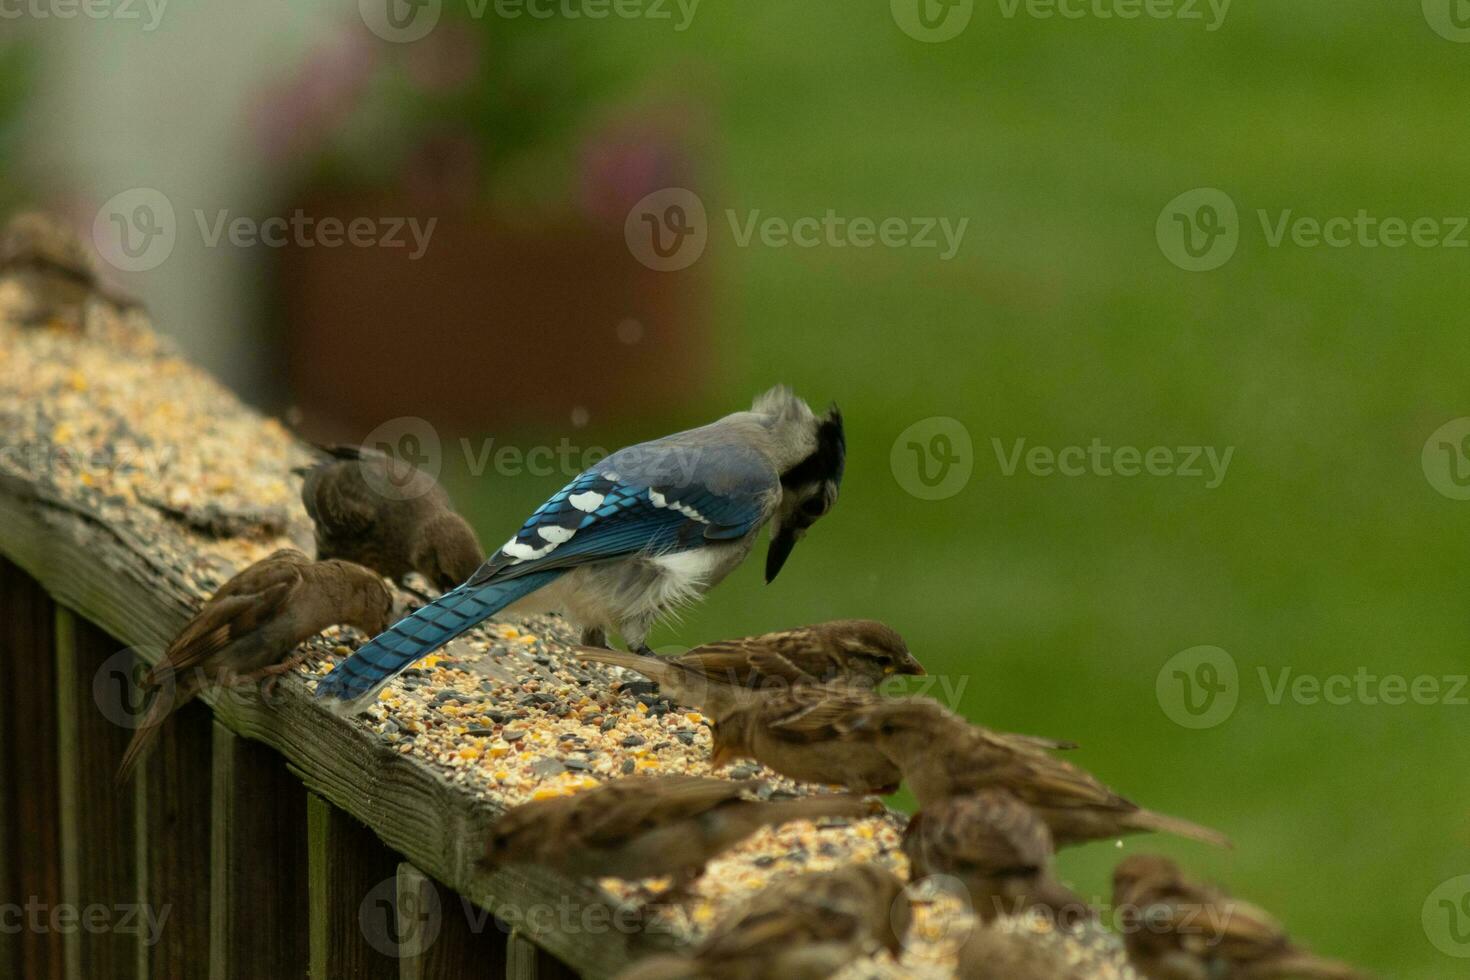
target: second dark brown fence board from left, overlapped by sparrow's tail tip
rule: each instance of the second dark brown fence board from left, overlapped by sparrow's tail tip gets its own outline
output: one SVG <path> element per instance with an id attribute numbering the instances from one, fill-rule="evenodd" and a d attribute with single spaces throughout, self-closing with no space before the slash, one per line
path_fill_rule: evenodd
<path id="1" fill-rule="evenodd" d="M 62 882 L 78 921 L 65 934 L 66 976 L 75 980 L 132 976 L 148 924 L 162 911 L 137 904 L 132 796 L 107 779 L 132 730 L 119 724 L 126 716 L 94 696 L 94 689 L 125 683 L 132 669 L 122 644 L 65 608 L 56 611 Z"/>

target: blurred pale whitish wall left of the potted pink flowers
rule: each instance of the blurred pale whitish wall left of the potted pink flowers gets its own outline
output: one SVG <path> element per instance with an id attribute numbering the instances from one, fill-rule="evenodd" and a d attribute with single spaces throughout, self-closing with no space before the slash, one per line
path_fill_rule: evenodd
<path id="1" fill-rule="evenodd" d="M 46 9 L 51 0 L 26 0 Z M 119 0 L 121 1 L 121 0 Z M 119 191 L 150 187 L 173 204 L 173 251 L 156 269 L 119 273 L 160 329 L 247 398 L 270 391 L 260 344 L 259 279 L 269 250 L 207 247 L 194 210 L 266 216 L 278 176 L 251 119 L 253 100 L 354 3 L 135 0 L 135 19 L 28 16 L 40 48 L 26 170 L 88 223 Z M 7 22 L 0 29 L 10 29 Z M 151 29 L 150 29 L 151 28 Z"/>

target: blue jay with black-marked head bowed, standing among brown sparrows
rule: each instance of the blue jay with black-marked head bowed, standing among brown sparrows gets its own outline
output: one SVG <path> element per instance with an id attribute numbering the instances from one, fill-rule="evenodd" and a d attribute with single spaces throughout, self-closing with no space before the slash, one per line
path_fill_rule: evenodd
<path id="1" fill-rule="evenodd" d="M 542 504 L 467 582 L 337 666 L 316 696 L 360 701 L 501 610 L 562 613 L 582 642 L 648 632 L 745 560 L 770 525 L 766 582 L 836 502 L 847 444 L 833 406 L 817 416 L 785 386 L 700 429 L 612 454 Z"/>

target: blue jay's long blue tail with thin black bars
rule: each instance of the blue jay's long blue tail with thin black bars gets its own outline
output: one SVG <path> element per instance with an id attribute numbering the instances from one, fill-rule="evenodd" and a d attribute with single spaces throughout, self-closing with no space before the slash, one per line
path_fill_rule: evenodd
<path id="1" fill-rule="evenodd" d="M 563 574 L 532 572 L 488 585 L 462 585 L 398 620 L 316 685 L 316 696 L 359 701 L 472 626 Z"/>

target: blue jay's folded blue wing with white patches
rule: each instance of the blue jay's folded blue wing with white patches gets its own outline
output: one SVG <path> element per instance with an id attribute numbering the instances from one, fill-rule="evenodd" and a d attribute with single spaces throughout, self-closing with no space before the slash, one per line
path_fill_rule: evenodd
<path id="1" fill-rule="evenodd" d="M 754 453 L 719 450 L 716 491 L 697 466 L 679 475 L 648 466 L 641 457 L 657 445 L 623 450 L 563 486 L 470 583 L 736 541 L 770 516 L 778 478 Z"/>

